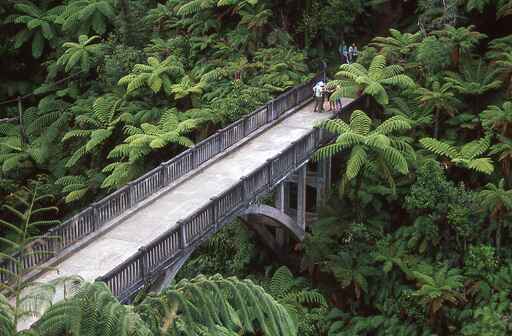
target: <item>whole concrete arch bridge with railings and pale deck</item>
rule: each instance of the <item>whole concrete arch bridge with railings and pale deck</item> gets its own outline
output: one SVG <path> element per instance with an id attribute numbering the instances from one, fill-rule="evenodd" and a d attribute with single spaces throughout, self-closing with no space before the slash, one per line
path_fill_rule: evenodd
<path id="1" fill-rule="evenodd" d="M 287 91 L 52 229 L 32 246 L 51 256 L 14 257 L 26 267 L 55 271 L 27 278 L 79 275 L 106 282 L 129 302 L 142 288 L 166 286 L 191 253 L 235 217 L 248 220 L 276 251 L 286 232 L 303 239 L 311 216 L 306 188 L 321 204 L 330 183 L 328 160 L 308 173 L 312 154 L 332 139 L 313 126 L 336 116 L 313 113 L 312 85 Z M 357 104 L 344 99 L 341 115 Z M 297 191 L 295 204 L 290 188 Z M 275 204 L 259 202 L 273 191 Z M 4 260 L 3 267 L 16 272 L 12 261 Z M 9 281 L 2 274 L 0 280 Z"/>

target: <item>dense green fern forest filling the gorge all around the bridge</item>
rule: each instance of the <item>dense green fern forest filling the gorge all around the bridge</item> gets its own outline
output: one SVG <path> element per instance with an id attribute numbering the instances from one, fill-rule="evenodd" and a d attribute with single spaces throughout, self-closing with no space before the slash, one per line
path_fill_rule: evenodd
<path id="1" fill-rule="evenodd" d="M 276 263 L 234 223 L 161 295 L 128 306 L 84 285 L 31 332 L 510 334 L 511 18 L 507 0 L 3 1 L 3 251 L 311 78 L 320 60 L 333 99 L 366 95 L 349 122 L 319 125 L 339 136 L 316 158 L 342 163 L 294 258 Z M 359 42 L 357 63 L 340 66 L 342 40 Z M 2 335 L 30 313 L 32 285 L 6 289 L 18 300 L 0 301 Z"/>

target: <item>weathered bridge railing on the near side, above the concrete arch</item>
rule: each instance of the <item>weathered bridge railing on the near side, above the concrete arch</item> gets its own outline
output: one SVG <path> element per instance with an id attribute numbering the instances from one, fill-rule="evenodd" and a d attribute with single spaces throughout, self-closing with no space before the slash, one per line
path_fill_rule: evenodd
<path id="1" fill-rule="evenodd" d="M 356 99 L 342 109 L 341 117 L 360 106 Z M 340 117 L 340 115 L 338 115 Z M 283 179 L 302 166 L 322 143 L 334 138 L 333 134 L 314 128 L 301 139 L 293 142 L 276 157 L 187 218 L 175 223 L 169 231 L 141 248 L 134 256 L 98 278 L 112 289 L 121 301 L 126 301 L 142 288 L 155 274 L 177 262 L 192 246 L 197 246 L 216 232 L 229 218 L 248 206 L 259 195 L 277 186 Z"/>

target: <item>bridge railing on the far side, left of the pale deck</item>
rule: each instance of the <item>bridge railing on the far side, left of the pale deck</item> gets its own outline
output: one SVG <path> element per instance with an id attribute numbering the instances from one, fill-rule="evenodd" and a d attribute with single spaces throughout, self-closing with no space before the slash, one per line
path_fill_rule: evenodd
<path id="1" fill-rule="evenodd" d="M 307 101 L 312 96 L 312 85 L 314 81 L 318 80 L 317 78 L 318 76 L 286 91 L 263 107 L 217 131 L 192 148 L 95 202 L 59 226 L 51 228 L 41 239 L 34 241 L 30 246 L 32 251 L 42 253 L 38 255 L 25 253 L 23 256 L 13 254 L 13 259 L 0 260 L 0 267 L 6 268 L 11 273 L 19 273 L 21 270 L 17 270 L 17 263 L 14 260 L 21 261 L 24 269 L 33 268 L 49 261 L 62 250 L 98 231 L 109 221 L 134 208 L 162 188 L 172 185 L 184 175 L 228 150 L 259 128 L 273 122 L 289 109 Z M 191 231 L 190 234 L 192 232 L 195 231 Z M 9 274 L 0 272 L 0 283 L 9 282 L 10 278 Z"/>

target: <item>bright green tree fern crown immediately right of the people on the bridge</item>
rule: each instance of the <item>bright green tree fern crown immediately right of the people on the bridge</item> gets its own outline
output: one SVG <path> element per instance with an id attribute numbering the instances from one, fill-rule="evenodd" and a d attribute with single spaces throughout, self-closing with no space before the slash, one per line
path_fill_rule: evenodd
<path id="1" fill-rule="evenodd" d="M 331 84 L 336 87 L 332 99 L 353 97 L 362 92 L 373 96 L 379 104 L 387 105 L 389 97 L 386 86 L 404 89 L 415 86 L 414 81 L 404 75 L 403 71 L 403 68 L 396 64 L 386 66 L 386 58 L 383 55 L 375 56 L 368 69 L 358 63 L 342 64 L 336 74 L 342 80 L 333 81 Z"/>

